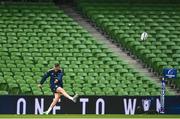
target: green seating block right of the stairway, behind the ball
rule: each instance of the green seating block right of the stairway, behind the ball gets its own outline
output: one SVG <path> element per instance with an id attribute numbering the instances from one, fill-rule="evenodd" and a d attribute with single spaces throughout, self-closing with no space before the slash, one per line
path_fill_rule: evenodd
<path id="1" fill-rule="evenodd" d="M 80 0 L 77 9 L 160 76 L 166 67 L 179 72 L 179 5 Z M 140 40 L 143 32 L 148 33 L 145 41 Z M 171 81 L 180 90 L 180 81 Z"/>

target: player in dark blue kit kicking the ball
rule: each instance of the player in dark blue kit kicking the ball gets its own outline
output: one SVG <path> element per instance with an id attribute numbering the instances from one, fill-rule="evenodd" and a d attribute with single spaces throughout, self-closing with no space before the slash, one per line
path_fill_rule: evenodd
<path id="1" fill-rule="evenodd" d="M 56 105 L 59 101 L 61 94 L 64 95 L 66 98 L 76 102 L 78 95 L 76 94 L 74 97 L 71 97 L 64 89 L 63 89 L 63 70 L 60 68 L 59 64 L 55 64 L 54 68 L 50 69 L 47 73 L 44 74 L 42 77 L 40 84 L 38 85 L 40 88 L 42 84 L 46 81 L 48 77 L 50 77 L 50 88 L 51 91 L 54 93 L 54 99 L 51 103 L 49 109 L 44 112 L 44 114 L 49 114 L 52 108 Z"/>

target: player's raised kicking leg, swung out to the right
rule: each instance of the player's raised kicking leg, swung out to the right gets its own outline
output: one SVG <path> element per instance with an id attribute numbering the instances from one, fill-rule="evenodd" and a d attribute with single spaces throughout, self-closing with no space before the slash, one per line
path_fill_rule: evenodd
<path id="1" fill-rule="evenodd" d="M 63 94 L 66 98 L 72 100 L 73 102 L 76 102 L 76 99 L 78 98 L 78 95 L 76 94 L 74 97 L 71 97 L 63 88 L 58 87 L 56 89 L 56 92 Z"/>

